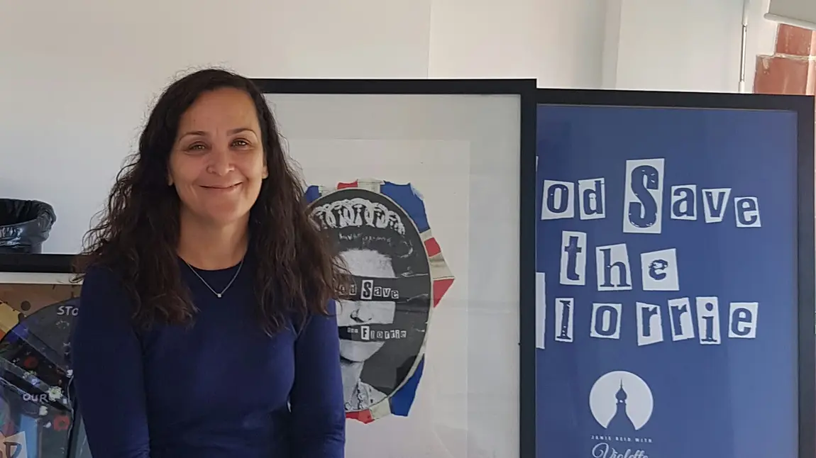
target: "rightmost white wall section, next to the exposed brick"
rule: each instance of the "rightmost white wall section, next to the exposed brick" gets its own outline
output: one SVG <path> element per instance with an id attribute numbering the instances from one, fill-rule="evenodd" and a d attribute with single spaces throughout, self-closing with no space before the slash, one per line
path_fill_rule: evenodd
<path id="1" fill-rule="evenodd" d="M 774 51 L 769 0 L 608 0 L 603 87 L 736 92 L 743 13 L 745 87 L 756 55 Z M 617 20 L 617 23 L 615 22 Z"/>

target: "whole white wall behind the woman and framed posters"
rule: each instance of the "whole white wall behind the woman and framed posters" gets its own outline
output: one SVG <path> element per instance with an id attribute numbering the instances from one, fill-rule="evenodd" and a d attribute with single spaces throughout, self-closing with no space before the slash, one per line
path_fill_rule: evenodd
<path id="1" fill-rule="evenodd" d="M 734 91 L 741 17 L 742 0 L 2 2 L 0 196 L 51 202 L 45 250 L 75 252 L 149 104 L 191 66 Z M 749 77 L 761 35 L 749 33 Z"/>

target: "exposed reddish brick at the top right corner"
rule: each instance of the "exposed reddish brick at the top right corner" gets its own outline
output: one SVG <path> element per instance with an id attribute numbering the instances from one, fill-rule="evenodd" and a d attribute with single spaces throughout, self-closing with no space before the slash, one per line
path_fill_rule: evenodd
<path id="1" fill-rule="evenodd" d="M 774 55 L 756 56 L 754 92 L 814 95 L 816 32 L 779 24 Z"/>

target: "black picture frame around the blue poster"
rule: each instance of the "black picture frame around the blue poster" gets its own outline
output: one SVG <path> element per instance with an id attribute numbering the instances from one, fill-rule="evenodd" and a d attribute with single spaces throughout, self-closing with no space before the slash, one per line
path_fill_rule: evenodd
<path id="1" fill-rule="evenodd" d="M 816 271 L 814 271 L 814 97 L 641 90 L 536 90 L 539 105 L 713 108 L 795 112 L 797 117 L 797 273 L 799 458 L 816 456 Z M 534 194 L 535 187 L 526 190 Z M 523 278 L 527 278 L 526 276 Z M 533 398 L 534 399 L 534 398 Z"/>

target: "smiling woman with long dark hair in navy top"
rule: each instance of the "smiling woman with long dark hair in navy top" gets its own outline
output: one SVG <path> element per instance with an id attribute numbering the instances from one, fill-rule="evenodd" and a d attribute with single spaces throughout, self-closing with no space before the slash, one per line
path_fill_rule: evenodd
<path id="1" fill-rule="evenodd" d="M 73 373 L 94 458 L 344 456 L 344 270 L 251 81 L 165 91 L 85 254 Z"/>

